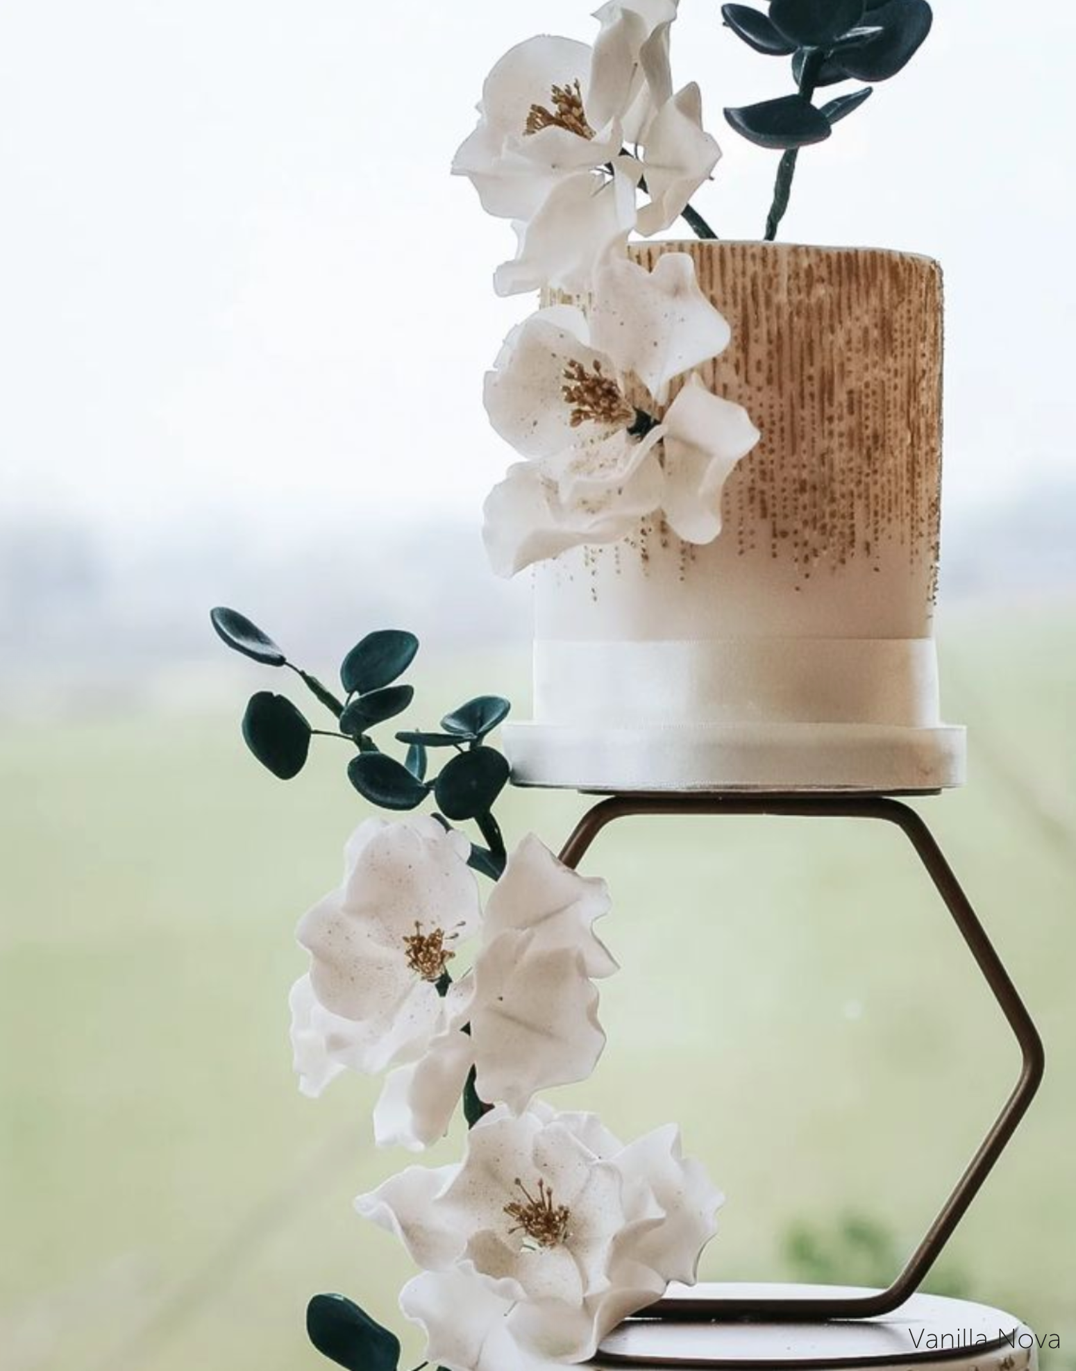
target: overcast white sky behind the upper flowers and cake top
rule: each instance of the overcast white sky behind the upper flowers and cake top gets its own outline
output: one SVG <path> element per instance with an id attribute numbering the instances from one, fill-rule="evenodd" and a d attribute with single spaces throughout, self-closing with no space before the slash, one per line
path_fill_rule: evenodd
<path id="1" fill-rule="evenodd" d="M 800 159 L 783 236 L 938 256 L 947 506 L 1072 472 L 1076 11 L 939 0 L 910 67 Z M 488 67 L 569 0 L 33 0 L 0 8 L 0 499 L 122 532 L 374 509 L 477 520 L 510 454 L 482 370 L 529 308 L 450 178 Z M 758 237 L 774 155 L 724 104 L 787 63 L 681 0 L 678 82 Z"/>

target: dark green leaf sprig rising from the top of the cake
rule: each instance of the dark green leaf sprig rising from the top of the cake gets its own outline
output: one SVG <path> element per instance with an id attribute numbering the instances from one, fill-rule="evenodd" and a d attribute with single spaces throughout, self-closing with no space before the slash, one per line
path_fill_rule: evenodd
<path id="1" fill-rule="evenodd" d="M 788 208 L 799 149 L 828 138 L 873 86 L 822 106 L 814 104 L 816 90 L 840 81 L 888 81 L 912 60 L 931 32 L 933 14 L 927 0 L 770 0 L 768 14 L 724 4 L 721 15 L 755 52 L 792 59 L 794 95 L 725 110 L 744 138 L 781 149 L 763 234 L 773 241 Z"/>

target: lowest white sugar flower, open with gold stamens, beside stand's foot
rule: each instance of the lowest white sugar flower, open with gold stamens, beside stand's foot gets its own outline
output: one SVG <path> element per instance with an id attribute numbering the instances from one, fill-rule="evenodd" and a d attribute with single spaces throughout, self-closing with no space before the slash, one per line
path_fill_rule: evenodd
<path id="1" fill-rule="evenodd" d="M 424 1268 L 400 1296 L 454 1371 L 581 1361 L 621 1319 L 692 1282 L 722 1202 L 676 1128 L 628 1148 L 594 1115 L 496 1109 L 458 1165 L 356 1200 Z"/>

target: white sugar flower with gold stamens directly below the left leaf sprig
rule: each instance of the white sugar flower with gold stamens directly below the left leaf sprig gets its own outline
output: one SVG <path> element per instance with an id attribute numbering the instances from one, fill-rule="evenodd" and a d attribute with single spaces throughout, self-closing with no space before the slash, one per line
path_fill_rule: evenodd
<path id="1" fill-rule="evenodd" d="M 437 988 L 478 925 L 470 845 L 429 817 L 370 818 L 347 845 L 344 883 L 300 921 L 310 976 L 292 991 L 304 1089 L 350 1067 L 378 1072 L 421 1056 L 451 1013 Z"/>

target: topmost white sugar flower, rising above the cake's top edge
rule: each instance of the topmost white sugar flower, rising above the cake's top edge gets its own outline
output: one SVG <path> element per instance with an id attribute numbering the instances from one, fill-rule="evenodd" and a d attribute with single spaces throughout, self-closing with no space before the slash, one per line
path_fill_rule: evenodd
<path id="1" fill-rule="evenodd" d="M 636 219 L 647 234 L 668 228 L 720 156 L 698 88 L 673 95 L 676 0 L 606 4 L 595 18 L 594 48 L 540 36 L 496 63 L 452 162 L 489 214 L 514 221 L 518 251 L 498 269 L 500 295 L 584 289 Z M 637 215 L 639 186 L 650 200 Z"/>

